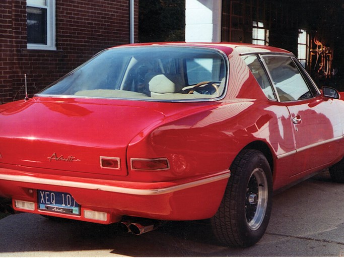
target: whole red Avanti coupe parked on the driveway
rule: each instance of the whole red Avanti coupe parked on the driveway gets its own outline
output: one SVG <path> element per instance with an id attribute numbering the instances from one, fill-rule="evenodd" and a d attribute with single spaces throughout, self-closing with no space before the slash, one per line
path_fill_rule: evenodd
<path id="1" fill-rule="evenodd" d="M 264 234 L 272 192 L 343 173 L 344 102 L 282 49 L 225 43 L 104 50 L 0 105 L 0 196 L 16 211 L 140 234 L 210 219 L 220 243 Z"/>

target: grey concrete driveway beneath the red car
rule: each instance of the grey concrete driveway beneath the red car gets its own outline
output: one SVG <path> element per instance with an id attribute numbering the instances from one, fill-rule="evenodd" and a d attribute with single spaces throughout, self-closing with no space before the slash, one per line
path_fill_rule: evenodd
<path id="1" fill-rule="evenodd" d="M 273 197 L 267 232 L 249 248 L 217 245 L 204 222 L 169 222 L 135 236 L 23 213 L 0 220 L 0 256 L 342 256 L 343 201 L 344 184 L 328 173 L 304 181 Z"/>

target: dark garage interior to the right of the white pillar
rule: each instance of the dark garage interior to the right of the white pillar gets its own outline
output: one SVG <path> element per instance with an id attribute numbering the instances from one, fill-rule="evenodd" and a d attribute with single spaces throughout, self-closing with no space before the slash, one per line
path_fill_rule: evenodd
<path id="1" fill-rule="evenodd" d="M 342 0 L 224 0 L 222 5 L 222 41 L 285 48 L 298 55 L 319 87 L 340 91 L 344 90 L 343 28 Z"/>

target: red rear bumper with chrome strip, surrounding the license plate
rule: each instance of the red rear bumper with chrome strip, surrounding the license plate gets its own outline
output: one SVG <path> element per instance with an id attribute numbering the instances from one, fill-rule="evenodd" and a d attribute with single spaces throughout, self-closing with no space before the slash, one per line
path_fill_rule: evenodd
<path id="1" fill-rule="evenodd" d="M 212 217 L 222 200 L 230 171 L 169 182 L 126 182 L 34 174 L 0 168 L 0 196 L 34 203 L 34 210 L 18 211 L 110 224 L 122 216 L 159 220 L 198 220 Z M 81 215 L 37 209 L 37 190 L 70 193 Z M 85 211 L 106 213 L 106 221 L 85 218 Z"/>

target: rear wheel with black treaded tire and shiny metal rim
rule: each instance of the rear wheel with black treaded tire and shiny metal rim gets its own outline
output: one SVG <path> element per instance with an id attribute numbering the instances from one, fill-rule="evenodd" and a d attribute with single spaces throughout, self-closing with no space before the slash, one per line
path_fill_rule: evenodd
<path id="1" fill-rule="evenodd" d="M 271 168 L 257 150 L 243 150 L 231 166 L 231 177 L 219 210 L 211 219 L 218 241 L 246 247 L 265 233 L 272 207 Z"/>

